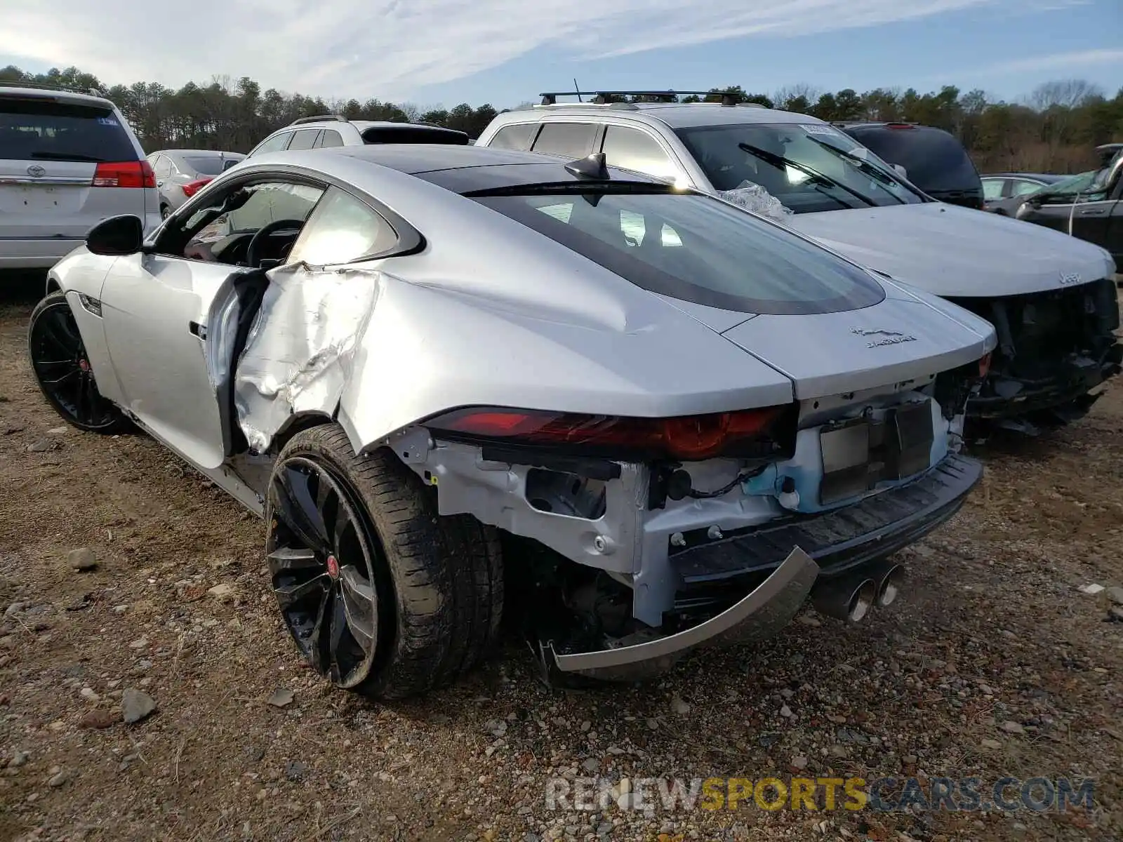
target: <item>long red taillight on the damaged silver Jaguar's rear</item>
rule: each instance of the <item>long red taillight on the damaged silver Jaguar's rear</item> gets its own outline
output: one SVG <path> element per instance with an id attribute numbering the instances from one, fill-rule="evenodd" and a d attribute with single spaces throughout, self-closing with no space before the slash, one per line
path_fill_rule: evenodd
<path id="1" fill-rule="evenodd" d="M 656 451 L 676 459 L 710 459 L 738 442 L 758 440 L 784 411 L 780 406 L 677 418 L 619 418 L 536 410 L 469 409 L 428 425 L 462 436 L 511 439 L 528 445 L 614 447 Z"/>

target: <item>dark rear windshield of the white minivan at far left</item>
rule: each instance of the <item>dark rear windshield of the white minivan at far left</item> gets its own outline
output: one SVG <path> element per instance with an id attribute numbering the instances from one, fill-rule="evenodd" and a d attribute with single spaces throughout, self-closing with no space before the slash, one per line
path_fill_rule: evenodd
<path id="1" fill-rule="evenodd" d="M 0 97 L 0 158 L 139 159 L 128 134 L 111 110 L 30 97 Z"/>

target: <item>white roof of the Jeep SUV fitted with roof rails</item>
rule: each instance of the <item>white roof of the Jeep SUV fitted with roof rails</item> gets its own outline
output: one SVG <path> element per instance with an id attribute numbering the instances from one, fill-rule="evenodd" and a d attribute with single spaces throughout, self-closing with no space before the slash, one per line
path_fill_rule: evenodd
<path id="1" fill-rule="evenodd" d="M 627 106 L 627 108 L 621 108 Z M 581 117 L 623 117 L 645 116 L 670 126 L 672 128 L 691 128 L 695 126 L 738 126 L 747 122 L 794 122 L 823 123 L 818 117 L 800 115 L 793 111 L 780 111 L 774 108 L 760 108 L 751 103 L 723 106 L 720 102 L 629 102 L 594 104 L 560 104 L 533 106 L 527 109 L 504 111 L 500 118 L 503 122 L 522 122 L 520 118 L 532 115 L 533 119 L 555 116 Z"/>

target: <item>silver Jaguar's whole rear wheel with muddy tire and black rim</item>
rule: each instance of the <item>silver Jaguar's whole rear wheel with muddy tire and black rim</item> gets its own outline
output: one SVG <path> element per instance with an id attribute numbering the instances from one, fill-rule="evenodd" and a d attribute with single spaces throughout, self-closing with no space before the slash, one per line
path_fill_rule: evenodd
<path id="1" fill-rule="evenodd" d="M 495 641 L 499 537 L 437 514 L 389 450 L 356 456 L 338 424 L 296 433 L 266 495 L 271 584 L 303 657 L 343 689 L 403 698 L 455 681 Z"/>

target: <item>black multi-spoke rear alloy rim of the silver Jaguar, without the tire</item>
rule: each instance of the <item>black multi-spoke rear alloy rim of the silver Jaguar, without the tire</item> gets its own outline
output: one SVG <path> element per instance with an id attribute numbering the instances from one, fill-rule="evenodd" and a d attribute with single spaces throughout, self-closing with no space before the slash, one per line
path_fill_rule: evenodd
<path id="1" fill-rule="evenodd" d="M 300 456 L 276 467 L 268 488 L 266 553 L 284 623 L 312 668 L 345 689 L 371 672 L 387 594 L 375 578 L 382 546 L 357 501 L 341 476 Z"/>

